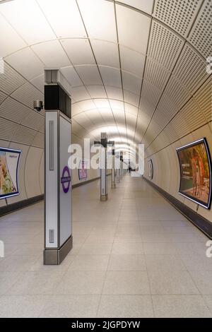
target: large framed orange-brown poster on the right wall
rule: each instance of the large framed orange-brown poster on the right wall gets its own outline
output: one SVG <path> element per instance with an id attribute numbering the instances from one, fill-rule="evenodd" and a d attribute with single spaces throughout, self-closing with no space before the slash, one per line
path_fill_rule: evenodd
<path id="1" fill-rule="evenodd" d="M 177 148 L 179 194 L 204 208 L 211 207 L 211 155 L 206 138 Z"/>

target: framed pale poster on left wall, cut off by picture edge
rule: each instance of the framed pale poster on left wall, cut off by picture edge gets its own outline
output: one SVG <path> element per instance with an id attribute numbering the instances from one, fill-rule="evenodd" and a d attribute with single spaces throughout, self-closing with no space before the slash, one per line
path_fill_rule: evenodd
<path id="1" fill-rule="evenodd" d="M 21 150 L 0 148 L 0 199 L 16 196 L 18 189 L 18 164 Z"/>

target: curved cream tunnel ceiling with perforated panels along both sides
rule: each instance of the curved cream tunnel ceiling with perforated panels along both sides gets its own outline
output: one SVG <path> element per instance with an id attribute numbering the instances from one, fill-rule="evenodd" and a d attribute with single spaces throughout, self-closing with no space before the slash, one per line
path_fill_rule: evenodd
<path id="1" fill-rule="evenodd" d="M 209 124 L 211 13 L 211 0 L 0 1 L 0 138 L 42 146 L 32 105 L 52 67 L 71 84 L 73 140 L 107 131 L 151 154 Z"/>

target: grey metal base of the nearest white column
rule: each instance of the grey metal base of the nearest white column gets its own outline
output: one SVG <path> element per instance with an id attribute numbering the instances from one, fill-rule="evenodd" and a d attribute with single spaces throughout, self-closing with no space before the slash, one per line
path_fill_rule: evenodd
<path id="1" fill-rule="evenodd" d="M 43 263 L 44 265 L 59 265 L 64 258 L 69 254 L 69 251 L 73 248 L 73 236 L 69 237 L 66 242 L 59 248 L 44 249 L 43 251 Z"/>

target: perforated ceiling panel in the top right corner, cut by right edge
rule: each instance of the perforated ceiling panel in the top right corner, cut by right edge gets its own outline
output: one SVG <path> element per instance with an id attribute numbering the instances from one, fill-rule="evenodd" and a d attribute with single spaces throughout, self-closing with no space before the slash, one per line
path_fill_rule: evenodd
<path id="1" fill-rule="evenodd" d="M 207 0 L 201 8 L 194 27 L 189 35 L 189 42 L 204 56 L 212 54 L 212 1 Z"/>

